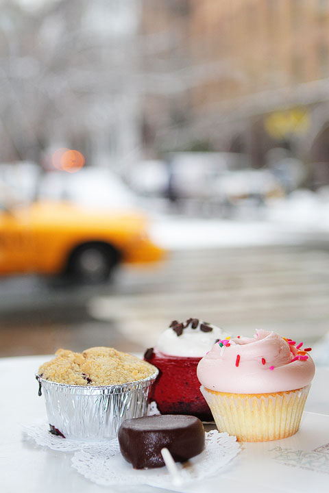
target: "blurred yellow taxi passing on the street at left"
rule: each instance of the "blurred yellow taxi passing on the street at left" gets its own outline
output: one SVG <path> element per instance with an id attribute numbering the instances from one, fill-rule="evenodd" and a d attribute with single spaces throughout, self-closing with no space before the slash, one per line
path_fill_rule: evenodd
<path id="1" fill-rule="evenodd" d="M 29 204 L 0 188 L 0 275 L 68 275 L 97 283 L 119 262 L 156 262 L 163 251 L 147 232 L 147 217 L 130 207 L 95 207 L 60 199 Z M 0 202 L 1 202 L 0 199 Z"/>

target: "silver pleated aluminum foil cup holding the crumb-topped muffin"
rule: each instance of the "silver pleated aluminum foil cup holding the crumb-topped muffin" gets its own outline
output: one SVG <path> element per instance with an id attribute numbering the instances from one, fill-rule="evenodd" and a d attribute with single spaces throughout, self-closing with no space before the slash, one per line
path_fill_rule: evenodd
<path id="1" fill-rule="evenodd" d="M 51 430 L 70 440 L 111 440 L 123 420 L 147 413 L 147 398 L 158 370 L 143 380 L 121 385 L 67 385 L 36 375 L 45 396 Z"/>

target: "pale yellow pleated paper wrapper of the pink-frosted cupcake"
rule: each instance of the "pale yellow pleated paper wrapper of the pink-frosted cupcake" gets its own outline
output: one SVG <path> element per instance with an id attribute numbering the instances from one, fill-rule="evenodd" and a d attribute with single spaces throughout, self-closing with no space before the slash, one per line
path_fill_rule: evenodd
<path id="1" fill-rule="evenodd" d="M 300 429 L 310 385 L 271 394 L 229 394 L 200 388 L 217 429 L 241 442 L 287 438 Z"/>

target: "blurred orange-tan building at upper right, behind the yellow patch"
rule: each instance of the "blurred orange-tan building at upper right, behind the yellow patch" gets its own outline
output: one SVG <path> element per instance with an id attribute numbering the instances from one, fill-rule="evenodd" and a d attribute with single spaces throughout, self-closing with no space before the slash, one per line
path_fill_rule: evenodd
<path id="1" fill-rule="evenodd" d="M 204 115 L 212 129 L 218 122 L 219 145 L 249 153 L 255 166 L 279 146 L 309 162 L 329 161 L 315 142 L 328 125 L 329 2 L 206 0 L 193 6 L 193 36 L 204 39 L 208 58 L 225 68 L 219 81 L 194 92 L 195 122 Z"/>

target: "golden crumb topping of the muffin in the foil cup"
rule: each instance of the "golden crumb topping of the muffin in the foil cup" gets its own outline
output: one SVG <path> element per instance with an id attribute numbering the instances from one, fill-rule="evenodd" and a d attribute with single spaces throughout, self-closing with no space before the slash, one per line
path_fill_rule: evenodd
<path id="1" fill-rule="evenodd" d="M 43 379 L 67 385 L 118 385 L 150 377 L 156 368 L 136 356 L 113 348 L 94 347 L 83 353 L 58 349 L 40 366 Z"/>

